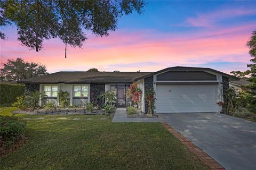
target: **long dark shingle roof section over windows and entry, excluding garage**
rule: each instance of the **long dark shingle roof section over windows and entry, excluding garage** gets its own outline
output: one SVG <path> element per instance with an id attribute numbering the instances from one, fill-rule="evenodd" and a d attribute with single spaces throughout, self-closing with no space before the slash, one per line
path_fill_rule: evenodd
<path id="1" fill-rule="evenodd" d="M 57 72 L 21 80 L 22 83 L 130 83 L 151 72 Z"/>

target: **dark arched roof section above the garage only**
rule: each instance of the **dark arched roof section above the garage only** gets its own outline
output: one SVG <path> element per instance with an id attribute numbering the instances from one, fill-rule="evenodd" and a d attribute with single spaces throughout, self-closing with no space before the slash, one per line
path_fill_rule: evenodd
<path id="1" fill-rule="evenodd" d="M 214 69 L 210 69 L 210 68 L 204 68 L 204 67 L 184 67 L 184 66 L 168 67 L 166 69 L 159 70 L 157 72 L 145 75 L 143 77 L 139 77 L 136 80 L 145 79 L 147 77 L 150 77 L 152 75 L 155 75 L 155 74 L 158 74 L 158 73 L 162 73 L 162 72 L 165 72 L 165 71 L 180 71 L 180 70 L 185 70 L 185 71 L 211 71 L 211 72 L 222 74 L 224 77 L 227 77 L 230 80 L 239 80 L 239 78 L 237 78 L 237 77 L 235 77 L 233 75 L 230 75 L 230 74 L 227 74 L 227 73 L 223 73 L 223 72 L 220 72 L 218 70 L 214 70 Z"/>

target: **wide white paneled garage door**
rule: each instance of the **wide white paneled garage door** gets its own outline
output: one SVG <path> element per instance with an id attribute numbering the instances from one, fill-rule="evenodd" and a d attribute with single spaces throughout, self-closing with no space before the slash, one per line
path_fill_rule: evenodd
<path id="1" fill-rule="evenodd" d="M 157 113 L 218 112 L 217 85 L 157 85 Z"/>

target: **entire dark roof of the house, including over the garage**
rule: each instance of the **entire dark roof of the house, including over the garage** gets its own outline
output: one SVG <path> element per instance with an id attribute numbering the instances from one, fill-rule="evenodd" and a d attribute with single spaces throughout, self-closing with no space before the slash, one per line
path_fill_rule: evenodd
<path id="1" fill-rule="evenodd" d="M 210 68 L 201 67 L 169 67 L 157 72 L 87 72 L 87 71 L 75 71 L 75 72 L 57 72 L 41 77 L 25 79 L 19 81 L 20 83 L 130 83 L 134 80 L 141 80 L 150 77 L 154 74 L 165 72 L 165 71 L 212 71 L 222 74 L 228 77 L 230 80 L 239 80 L 239 78 L 232 75 L 222 73 L 217 70 Z"/>

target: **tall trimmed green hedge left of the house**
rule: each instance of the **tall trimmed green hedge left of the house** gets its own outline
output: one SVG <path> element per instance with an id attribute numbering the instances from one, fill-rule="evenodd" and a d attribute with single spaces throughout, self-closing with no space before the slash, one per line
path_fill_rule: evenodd
<path id="1" fill-rule="evenodd" d="M 1 106 L 10 106 L 16 98 L 22 96 L 25 92 L 25 86 L 20 84 L 0 84 L 0 100 Z"/>

